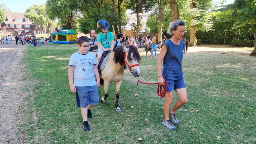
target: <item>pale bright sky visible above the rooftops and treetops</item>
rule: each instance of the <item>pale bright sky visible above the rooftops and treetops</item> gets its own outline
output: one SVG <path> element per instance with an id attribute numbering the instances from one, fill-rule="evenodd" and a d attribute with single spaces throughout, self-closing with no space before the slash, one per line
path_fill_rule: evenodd
<path id="1" fill-rule="evenodd" d="M 13 2 L 15 1 L 15 2 Z M 0 4 L 5 4 L 12 12 L 25 12 L 33 4 L 45 4 L 47 0 L 0 0 Z M 213 0 L 213 3 L 221 0 Z M 234 0 L 226 0 L 224 5 L 233 3 Z"/>

